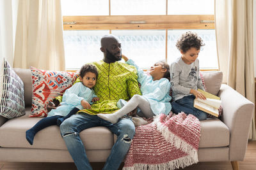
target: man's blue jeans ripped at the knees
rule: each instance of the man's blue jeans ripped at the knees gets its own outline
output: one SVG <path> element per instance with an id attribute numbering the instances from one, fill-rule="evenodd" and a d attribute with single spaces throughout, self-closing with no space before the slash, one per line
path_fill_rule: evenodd
<path id="1" fill-rule="evenodd" d="M 61 136 L 67 145 L 68 152 L 78 170 L 92 169 L 79 132 L 96 126 L 108 127 L 111 132 L 116 134 L 116 143 L 106 160 L 104 169 L 118 169 L 131 146 L 131 141 L 135 134 L 134 124 L 129 117 L 121 118 L 116 124 L 111 124 L 97 115 L 88 115 L 85 113 L 72 115 L 72 117 L 67 118 L 60 125 Z"/>

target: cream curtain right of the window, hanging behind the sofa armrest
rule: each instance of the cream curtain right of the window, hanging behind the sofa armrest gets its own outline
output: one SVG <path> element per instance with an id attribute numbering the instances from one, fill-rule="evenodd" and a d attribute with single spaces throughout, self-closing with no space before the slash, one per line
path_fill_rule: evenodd
<path id="1" fill-rule="evenodd" d="M 215 0 L 215 29 L 223 82 L 254 103 L 253 0 Z M 250 139 L 256 140 L 255 113 Z"/>

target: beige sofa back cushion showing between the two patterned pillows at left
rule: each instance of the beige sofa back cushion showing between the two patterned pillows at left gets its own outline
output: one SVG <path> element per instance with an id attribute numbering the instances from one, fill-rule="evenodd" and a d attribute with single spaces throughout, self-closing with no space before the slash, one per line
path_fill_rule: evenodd
<path id="1" fill-rule="evenodd" d="M 24 83 L 24 99 L 25 105 L 31 106 L 32 101 L 32 79 L 30 69 L 14 68 L 15 73 Z"/>

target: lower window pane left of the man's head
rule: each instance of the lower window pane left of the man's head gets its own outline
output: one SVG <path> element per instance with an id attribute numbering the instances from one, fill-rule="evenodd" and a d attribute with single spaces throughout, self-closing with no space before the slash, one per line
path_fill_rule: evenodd
<path id="1" fill-rule="evenodd" d="M 100 38 L 109 31 L 63 31 L 66 69 L 80 69 L 83 64 L 102 60 Z"/>

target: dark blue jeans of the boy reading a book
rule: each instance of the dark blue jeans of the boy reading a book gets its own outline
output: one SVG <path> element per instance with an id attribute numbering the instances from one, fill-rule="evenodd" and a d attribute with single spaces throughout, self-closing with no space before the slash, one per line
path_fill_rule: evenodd
<path id="1" fill-rule="evenodd" d="M 207 118 L 207 113 L 202 110 L 194 108 L 194 99 L 195 96 L 189 95 L 178 99 L 177 101 L 172 102 L 172 111 L 173 113 L 184 113 L 194 115 L 199 120 L 205 120 Z"/>

